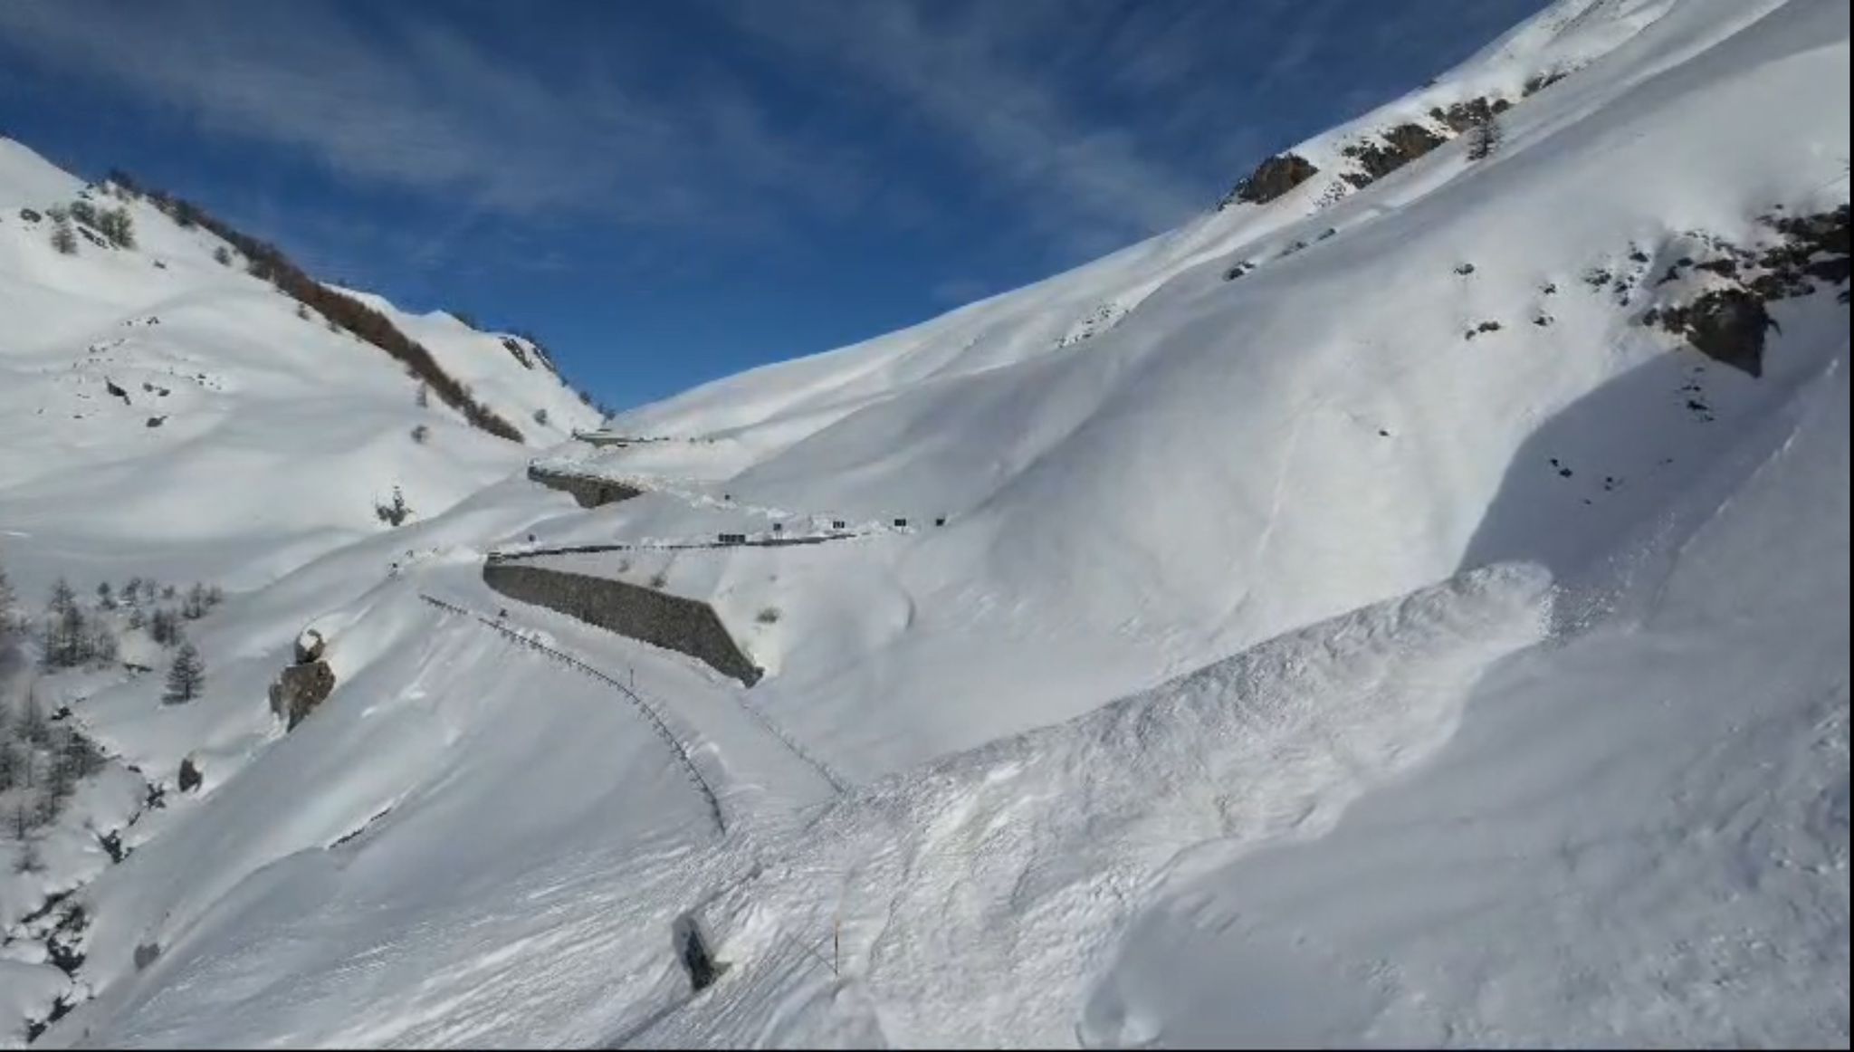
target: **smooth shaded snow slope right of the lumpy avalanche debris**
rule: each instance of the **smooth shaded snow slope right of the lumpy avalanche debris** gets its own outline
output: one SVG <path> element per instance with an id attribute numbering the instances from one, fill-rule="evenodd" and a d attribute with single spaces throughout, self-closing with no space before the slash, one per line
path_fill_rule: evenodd
<path id="1" fill-rule="evenodd" d="M 1847 1048 L 1845 336 L 1746 445 L 1433 763 L 1151 896 L 1085 1037 Z"/>

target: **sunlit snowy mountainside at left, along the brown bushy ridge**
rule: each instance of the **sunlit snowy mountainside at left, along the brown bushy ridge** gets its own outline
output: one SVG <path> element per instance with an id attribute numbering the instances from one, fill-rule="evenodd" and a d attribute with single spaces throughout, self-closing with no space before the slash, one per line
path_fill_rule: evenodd
<path id="1" fill-rule="evenodd" d="M 56 250 L 52 210 L 78 200 L 126 210 L 135 245 L 70 223 L 74 252 Z M 521 468 L 523 447 L 415 404 L 397 362 L 298 312 L 235 252 L 217 262 L 224 249 L 0 139 L 0 531 L 30 594 L 48 583 L 35 568 L 70 558 L 263 584 L 384 529 L 375 505 L 393 486 L 436 514 Z M 595 423 L 501 336 L 426 328 L 532 443 Z"/>

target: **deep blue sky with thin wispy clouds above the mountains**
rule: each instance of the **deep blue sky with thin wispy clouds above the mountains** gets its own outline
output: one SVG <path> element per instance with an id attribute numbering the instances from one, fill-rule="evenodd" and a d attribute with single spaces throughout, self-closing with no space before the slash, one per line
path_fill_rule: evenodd
<path id="1" fill-rule="evenodd" d="M 1164 230 L 1543 0 L 0 2 L 0 134 L 614 406 Z"/>

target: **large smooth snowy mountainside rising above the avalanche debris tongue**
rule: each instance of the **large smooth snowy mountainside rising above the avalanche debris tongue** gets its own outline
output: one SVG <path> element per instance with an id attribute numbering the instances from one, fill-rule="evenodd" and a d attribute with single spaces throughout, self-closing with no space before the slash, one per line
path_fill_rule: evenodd
<path id="1" fill-rule="evenodd" d="M 712 603 L 760 703 L 864 777 L 1457 568 L 1576 570 L 1819 375 L 1848 147 L 1822 4 L 1561 4 L 1398 106 L 1572 37 L 1609 50 L 1500 113 L 1483 160 L 1457 137 L 1331 200 L 1233 202 L 621 414 L 658 442 L 556 466 L 645 495 L 534 547 L 860 532 L 554 566 Z M 1133 306 L 1064 340 L 1109 299 Z"/>

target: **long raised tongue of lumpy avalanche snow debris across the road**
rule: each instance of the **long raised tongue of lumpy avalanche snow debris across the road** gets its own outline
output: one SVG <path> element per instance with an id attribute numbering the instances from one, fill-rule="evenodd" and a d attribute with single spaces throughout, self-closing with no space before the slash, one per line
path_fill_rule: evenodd
<path id="1" fill-rule="evenodd" d="M 730 972 L 636 1039 L 1070 1043 L 1083 980 L 1166 868 L 1324 831 L 1446 740 L 1548 607 L 1535 568 L 1467 573 L 884 779 L 697 909 Z M 840 980 L 786 954 L 829 954 L 836 926 Z"/>

